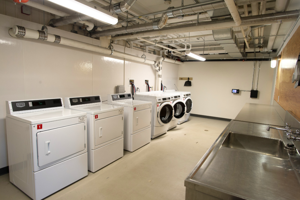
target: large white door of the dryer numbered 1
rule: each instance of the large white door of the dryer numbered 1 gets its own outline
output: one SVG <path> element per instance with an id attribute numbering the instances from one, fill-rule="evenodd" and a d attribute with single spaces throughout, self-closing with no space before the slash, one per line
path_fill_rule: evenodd
<path id="1" fill-rule="evenodd" d="M 37 133 L 38 166 L 85 150 L 84 123 Z"/>

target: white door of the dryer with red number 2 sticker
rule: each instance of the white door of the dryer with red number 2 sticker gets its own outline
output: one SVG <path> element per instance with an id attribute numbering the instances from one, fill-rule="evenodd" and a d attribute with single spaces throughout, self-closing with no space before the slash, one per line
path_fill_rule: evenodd
<path id="1" fill-rule="evenodd" d="M 122 115 L 95 121 L 95 146 L 122 136 Z"/>

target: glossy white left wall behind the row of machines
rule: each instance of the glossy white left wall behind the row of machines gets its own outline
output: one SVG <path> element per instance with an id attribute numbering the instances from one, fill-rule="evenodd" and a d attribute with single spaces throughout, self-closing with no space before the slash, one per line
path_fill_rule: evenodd
<path id="1" fill-rule="evenodd" d="M 46 41 L 14 38 L 8 34 L 13 25 L 35 30 L 42 25 L 22 19 L 0 15 L 0 168 L 8 165 L 5 128 L 5 101 L 55 97 L 101 95 L 116 92 L 116 85 L 125 82 L 130 92 L 128 78 L 135 79 L 140 91 L 146 91 L 143 78 L 155 87 L 157 75 L 153 65 L 107 57 L 97 52 L 76 49 Z M 49 33 L 101 46 L 101 41 L 48 27 Z M 103 42 L 103 41 L 102 41 Z M 143 52 L 114 45 L 121 52 L 141 56 Z M 159 56 L 145 53 L 148 59 Z M 179 67 L 164 62 L 163 82 L 171 89 L 178 84 Z"/>

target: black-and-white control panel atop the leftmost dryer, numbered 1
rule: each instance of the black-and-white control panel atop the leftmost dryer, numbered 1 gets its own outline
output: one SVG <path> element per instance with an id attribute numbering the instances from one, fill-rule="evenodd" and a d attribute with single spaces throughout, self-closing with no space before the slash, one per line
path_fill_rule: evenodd
<path id="1" fill-rule="evenodd" d="M 32 111 L 64 108 L 62 98 L 6 101 L 6 113 L 25 113 Z"/>

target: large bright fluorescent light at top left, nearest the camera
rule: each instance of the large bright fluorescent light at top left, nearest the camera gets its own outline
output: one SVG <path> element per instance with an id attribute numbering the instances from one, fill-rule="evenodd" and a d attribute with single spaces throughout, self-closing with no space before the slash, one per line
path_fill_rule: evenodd
<path id="1" fill-rule="evenodd" d="M 75 12 L 91 16 L 92 18 L 98 19 L 102 22 L 107 22 L 112 25 L 118 23 L 118 19 L 116 17 L 110 16 L 106 13 L 103 13 L 99 10 L 96 10 L 95 8 L 89 7 L 75 0 L 48 0 L 48 1 L 51 1 L 52 3 L 58 4 L 70 10 L 74 10 Z"/>

